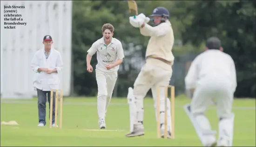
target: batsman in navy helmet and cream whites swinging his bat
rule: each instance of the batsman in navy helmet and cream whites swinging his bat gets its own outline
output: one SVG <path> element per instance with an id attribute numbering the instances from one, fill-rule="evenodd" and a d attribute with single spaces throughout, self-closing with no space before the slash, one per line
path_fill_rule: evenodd
<path id="1" fill-rule="evenodd" d="M 148 25 L 149 18 L 143 13 L 129 18 L 132 26 L 139 28 L 141 35 L 150 36 L 146 51 L 146 63 L 141 68 L 137 79 L 134 83 L 134 89 L 128 89 L 128 103 L 130 109 L 130 133 L 127 137 L 144 135 L 143 126 L 143 100 L 149 89 L 152 90 L 156 115 L 156 96 L 158 85 L 167 86 L 172 77 L 172 65 L 174 56 L 172 47 L 174 44 L 174 34 L 171 23 L 169 22 L 169 12 L 164 7 L 156 7 L 153 14 L 155 26 Z M 160 123 L 161 136 L 164 135 L 164 88 L 160 89 Z M 168 101 L 168 109 L 170 104 Z M 170 113 L 168 113 L 170 120 Z M 171 135 L 171 121 L 168 121 L 168 138 Z"/>

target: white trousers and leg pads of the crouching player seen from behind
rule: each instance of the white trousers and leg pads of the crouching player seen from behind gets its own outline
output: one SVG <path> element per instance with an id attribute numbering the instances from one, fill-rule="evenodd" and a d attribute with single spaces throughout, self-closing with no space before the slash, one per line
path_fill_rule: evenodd
<path id="1" fill-rule="evenodd" d="M 214 134 L 207 134 L 211 130 L 208 118 L 204 115 L 211 100 L 217 100 L 217 115 L 219 117 L 219 141 L 232 141 L 233 136 L 233 104 L 234 91 L 232 83 L 227 77 L 207 75 L 196 84 L 196 89 L 190 104 L 191 114 L 196 123 L 203 130 L 201 141 L 205 147 L 211 141 L 215 141 Z M 220 147 L 221 145 L 218 145 Z M 229 146 L 230 147 L 230 146 Z"/>

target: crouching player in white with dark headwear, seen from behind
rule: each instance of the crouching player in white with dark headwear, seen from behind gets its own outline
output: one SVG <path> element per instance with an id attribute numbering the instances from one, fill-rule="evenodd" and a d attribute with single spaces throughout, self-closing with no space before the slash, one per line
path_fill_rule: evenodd
<path id="1" fill-rule="evenodd" d="M 233 59 L 222 52 L 221 41 L 211 37 L 206 43 L 207 50 L 192 62 L 185 78 L 186 89 L 195 90 L 190 104 L 184 109 L 191 120 L 204 147 L 232 147 L 234 114 L 233 96 L 236 90 L 236 68 Z M 204 115 L 213 99 L 216 99 L 219 117 L 219 139 L 211 130 Z"/>

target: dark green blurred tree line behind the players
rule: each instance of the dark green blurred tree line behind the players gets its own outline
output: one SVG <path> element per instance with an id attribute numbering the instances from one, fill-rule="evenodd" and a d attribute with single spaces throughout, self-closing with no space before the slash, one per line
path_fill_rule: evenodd
<path id="1" fill-rule="evenodd" d="M 149 0 L 137 1 L 139 13 L 150 15 L 157 6 L 170 12 L 174 30 L 174 56 L 194 51 L 204 51 L 207 38 L 216 36 L 222 40 L 224 52 L 235 61 L 237 74 L 236 97 L 256 97 L 256 1 L 254 0 Z M 96 96 L 95 73 L 86 70 L 87 50 L 102 37 L 101 26 L 111 23 L 114 37 L 127 51 L 124 63 L 128 66 L 119 72 L 117 96 L 127 96 L 138 75 L 136 63 L 129 63 L 134 56 L 145 57 L 149 37 L 140 35 L 128 22 L 127 1 L 85 0 L 73 1 L 72 68 L 73 95 Z M 182 42 L 182 45 L 178 45 Z M 133 52 L 133 53 L 129 53 Z M 96 55 L 92 66 L 97 64 Z"/>

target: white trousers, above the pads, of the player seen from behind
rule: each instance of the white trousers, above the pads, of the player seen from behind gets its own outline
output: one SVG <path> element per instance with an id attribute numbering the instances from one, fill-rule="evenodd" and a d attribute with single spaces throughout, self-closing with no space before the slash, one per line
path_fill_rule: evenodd
<path id="1" fill-rule="evenodd" d="M 203 77 L 197 82 L 191 101 L 191 113 L 204 114 L 211 100 L 216 98 L 218 117 L 229 118 L 232 115 L 233 96 L 232 84 L 226 77 Z"/>

